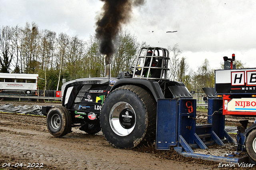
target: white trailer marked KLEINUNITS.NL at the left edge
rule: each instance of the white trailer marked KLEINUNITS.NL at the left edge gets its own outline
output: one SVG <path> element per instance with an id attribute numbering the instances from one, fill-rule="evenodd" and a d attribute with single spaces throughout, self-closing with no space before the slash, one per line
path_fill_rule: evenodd
<path id="1" fill-rule="evenodd" d="M 0 73 L 1 93 L 36 94 L 38 74 Z"/>

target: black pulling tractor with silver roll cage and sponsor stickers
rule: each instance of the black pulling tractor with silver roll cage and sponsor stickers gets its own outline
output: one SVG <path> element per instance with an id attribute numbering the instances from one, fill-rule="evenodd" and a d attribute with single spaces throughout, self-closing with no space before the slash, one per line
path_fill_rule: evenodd
<path id="1" fill-rule="evenodd" d="M 110 77 L 83 78 L 62 85 L 62 106 L 44 106 L 49 132 L 61 137 L 72 127 L 88 134 L 102 130 L 117 148 L 154 142 L 158 99 L 192 98 L 182 82 L 167 79 L 169 52 L 143 47 L 129 71 Z"/>

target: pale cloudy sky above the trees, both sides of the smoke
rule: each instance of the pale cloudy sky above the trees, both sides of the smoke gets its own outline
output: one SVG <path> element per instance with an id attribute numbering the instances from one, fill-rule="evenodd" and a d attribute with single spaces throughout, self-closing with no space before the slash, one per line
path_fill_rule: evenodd
<path id="1" fill-rule="evenodd" d="M 86 41 L 102 5 L 100 0 L 0 0 L 0 26 L 36 22 L 41 30 Z M 222 57 L 232 53 L 247 67 L 256 67 L 255 0 L 146 0 L 133 8 L 123 28 L 151 46 L 178 43 L 194 71 L 206 58 L 218 69 Z"/>

